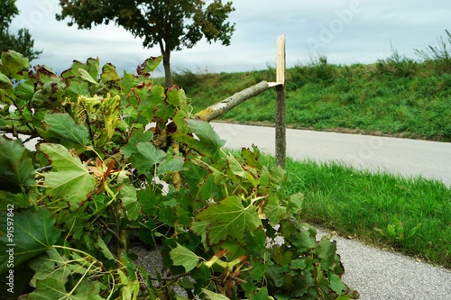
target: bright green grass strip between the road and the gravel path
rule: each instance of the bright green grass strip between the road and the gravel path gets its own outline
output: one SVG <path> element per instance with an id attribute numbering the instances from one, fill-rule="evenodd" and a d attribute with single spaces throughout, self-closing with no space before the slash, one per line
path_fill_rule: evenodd
<path id="1" fill-rule="evenodd" d="M 342 236 L 451 268 L 451 190 L 424 178 L 338 163 L 287 161 L 283 193 L 303 193 L 301 217 Z"/>

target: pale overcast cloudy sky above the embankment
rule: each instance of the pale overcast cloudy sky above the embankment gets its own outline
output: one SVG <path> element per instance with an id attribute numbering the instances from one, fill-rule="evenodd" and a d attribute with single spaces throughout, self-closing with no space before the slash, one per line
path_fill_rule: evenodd
<path id="1" fill-rule="evenodd" d="M 189 50 L 173 52 L 174 70 L 241 72 L 275 66 L 276 41 L 286 36 L 287 67 L 327 56 L 334 64 L 373 63 L 391 55 L 418 59 L 414 49 L 437 46 L 451 31 L 450 0 L 235 0 L 231 46 L 200 41 Z M 60 73 L 73 59 L 99 58 L 119 70 L 133 71 L 143 60 L 159 56 L 158 48 L 143 49 L 142 41 L 114 24 L 78 30 L 67 19 L 58 22 L 59 0 L 17 0 L 20 14 L 11 29 L 28 28 L 36 50 L 32 65 Z M 158 74 L 157 74 L 158 75 Z"/>

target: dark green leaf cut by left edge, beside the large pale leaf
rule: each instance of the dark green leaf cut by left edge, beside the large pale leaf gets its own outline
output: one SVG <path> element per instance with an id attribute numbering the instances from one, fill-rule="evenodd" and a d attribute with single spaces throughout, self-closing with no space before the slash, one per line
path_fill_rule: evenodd
<path id="1" fill-rule="evenodd" d="M 18 193 L 23 186 L 32 186 L 34 168 L 32 159 L 19 141 L 0 136 L 0 189 Z"/>

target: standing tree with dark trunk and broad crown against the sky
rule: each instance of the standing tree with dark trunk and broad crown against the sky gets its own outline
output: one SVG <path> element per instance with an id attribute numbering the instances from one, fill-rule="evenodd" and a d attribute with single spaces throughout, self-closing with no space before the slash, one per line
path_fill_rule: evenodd
<path id="1" fill-rule="evenodd" d="M 172 86 L 170 53 L 192 48 L 202 38 L 209 43 L 222 41 L 230 45 L 235 24 L 226 22 L 235 10 L 232 2 L 221 0 L 60 0 L 61 14 L 69 17 L 69 26 L 90 29 L 101 23 L 115 22 L 143 39 L 144 48 L 158 45 L 163 55 L 166 86 Z"/>

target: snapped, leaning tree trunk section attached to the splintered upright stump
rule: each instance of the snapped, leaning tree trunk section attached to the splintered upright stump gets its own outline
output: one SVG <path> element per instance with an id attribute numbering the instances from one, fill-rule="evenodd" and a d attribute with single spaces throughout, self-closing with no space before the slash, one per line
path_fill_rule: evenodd
<path id="1" fill-rule="evenodd" d="M 244 101 L 252 98 L 254 95 L 259 95 L 267 89 L 278 85 L 279 83 L 268 83 L 266 81 L 262 81 L 255 86 L 248 87 L 241 92 L 235 93 L 234 95 L 226 98 L 221 102 L 216 103 L 215 105 L 207 107 L 206 109 L 198 112 L 196 116 L 198 116 L 198 118 L 202 120 L 210 122 L 212 120 L 215 120 L 218 116 L 226 114 L 226 112 L 234 108 L 236 105 L 242 104 Z"/>

